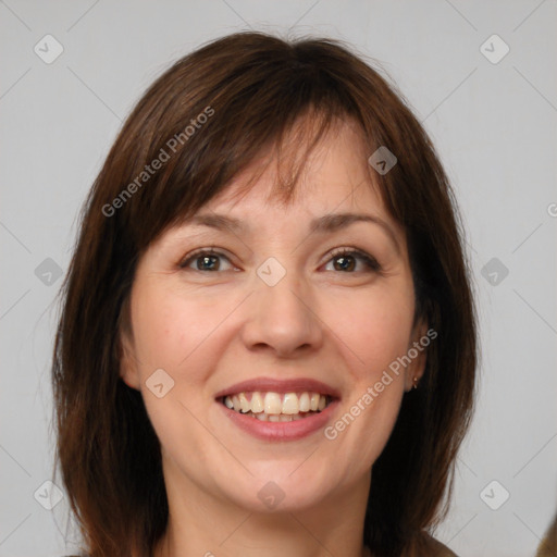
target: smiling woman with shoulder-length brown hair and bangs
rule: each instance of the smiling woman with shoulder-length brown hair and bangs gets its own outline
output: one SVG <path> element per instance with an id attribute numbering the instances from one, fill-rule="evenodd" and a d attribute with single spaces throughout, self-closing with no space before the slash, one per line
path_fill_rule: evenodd
<path id="1" fill-rule="evenodd" d="M 91 556 L 454 555 L 469 424 L 455 203 L 399 96 L 330 40 L 236 34 L 123 126 L 53 360 Z"/>

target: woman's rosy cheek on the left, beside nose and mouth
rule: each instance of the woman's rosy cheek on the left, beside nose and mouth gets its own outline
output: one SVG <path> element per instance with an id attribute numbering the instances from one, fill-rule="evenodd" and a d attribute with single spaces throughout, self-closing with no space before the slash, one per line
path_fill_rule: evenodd
<path id="1" fill-rule="evenodd" d="M 174 285 L 138 289 L 132 305 L 134 337 L 144 400 L 156 429 L 170 424 L 176 412 L 182 419 L 184 407 L 194 413 L 207 410 L 214 392 L 211 377 L 231 342 L 230 318 L 242 299 L 196 296 Z M 172 405 L 161 405 L 146 388 L 157 369 L 172 379 L 163 399 Z"/>

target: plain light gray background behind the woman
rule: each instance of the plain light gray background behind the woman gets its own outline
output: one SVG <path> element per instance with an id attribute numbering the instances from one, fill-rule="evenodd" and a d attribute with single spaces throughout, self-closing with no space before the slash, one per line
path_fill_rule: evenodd
<path id="1" fill-rule="evenodd" d="M 380 60 L 436 144 L 482 339 L 478 411 L 437 535 L 461 557 L 533 555 L 557 503 L 556 21 L 555 0 L 0 1 L 0 556 L 72 549 L 65 498 L 38 500 L 52 480 L 57 271 L 85 195 L 145 87 L 247 28 L 341 38 Z M 63 46 L 49 64 L 34 51 L 55 53 L 47 34 Z M 503 42 L 481 49 L 493 34 L 510 48 L 498 63 L 484 53 Z"/>

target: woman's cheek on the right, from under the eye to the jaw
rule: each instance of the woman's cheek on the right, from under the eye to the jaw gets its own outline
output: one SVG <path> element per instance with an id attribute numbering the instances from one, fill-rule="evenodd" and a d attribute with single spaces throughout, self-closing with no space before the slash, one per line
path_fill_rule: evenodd
<path id="1" fill-rule="evenodd" d="M 395 425 L 404 395 L 404 368 L 397 358 L 408 350 L 413 321 L 413 292 L 405 287 L 369 292 L 331 302 L 329 319 L 351 362 L 351 388 L 338 420 L 325 431 L 347 454 L 358 453 L 355 468 L 371 467 Z M 338 315 L 342 315 L 339 319 Z"/>

